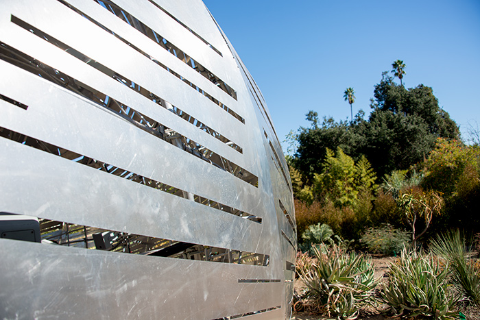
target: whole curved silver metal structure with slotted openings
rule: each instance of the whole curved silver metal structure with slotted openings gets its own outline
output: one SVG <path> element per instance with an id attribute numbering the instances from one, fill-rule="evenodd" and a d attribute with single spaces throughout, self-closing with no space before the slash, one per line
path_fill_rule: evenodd
<path id="1" fill-rule="evenodd" d="M 2 319 L 289 319 L 287 165 L 204 3 L 0 8 L 0 218 L 42 238 L 1 229 Z"/>

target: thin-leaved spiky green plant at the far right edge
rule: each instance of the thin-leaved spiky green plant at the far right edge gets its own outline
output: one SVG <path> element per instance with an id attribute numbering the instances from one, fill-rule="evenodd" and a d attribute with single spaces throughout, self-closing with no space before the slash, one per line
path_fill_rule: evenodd
<path id="1" fill-rule="evenodd" d="M 451 264 L 451 273 L 455 286 L 466 299 L 480 307 L 480 269 L 479 259 L 466 258 L 466 243 L 458 230 L 439 235 L 433 240 L 433 252 Z"/>

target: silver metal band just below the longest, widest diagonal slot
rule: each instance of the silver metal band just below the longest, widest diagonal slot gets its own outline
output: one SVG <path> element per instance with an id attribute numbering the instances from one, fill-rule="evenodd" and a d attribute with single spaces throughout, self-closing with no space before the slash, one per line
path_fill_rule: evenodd
<path id="1" fill-rule="evenodd" d="M 20 128 L 23 128 L 21 130 L 25 134 L 32 134 L 36 138 L 49 140 L 54 145 L 77 151 L 97 160 L 115 164 L 123 169 L 132 169 L 132 171 L 143 173 L 144 175 L 151 175 L 152 173 L 157 172 L 160 177 L 158 177 L 158 175 L 152 176 L 156 178 L 156 180 L 173 186 L 178 186 L 179 188 L 200 195 L 216 197 L 215 199 L 218 201 L 225 200 L 218 198 L 219 196 L 221 197 L 221 194 L 218 193 L 217 188 L 215 186 L 209 187 L 210 184 L 206 184 L 206 182 L 218 180 L 223 181 L 227 179 L 230 184 L 234 184 L 235 186 L 230 185 L 224 190 L 229 190 L 231 188 L 243 190 L 245 187 L 246 192 L 252 189 L 250 185 L 245 186 L 245 182 L 241 180 L 237 182 L 235 180 L 239 179 L 235 177 L 230 179 L 228 173 L 217 169 L 195 156 L 191 156 L 191 154 L 188 154 L 181 149 L 173 147 L 173 145 L 170 145 L 169 143 L 165 143 L 165 141 L 160 140 L 151 134 L 139 130 L 118 116 L 113 115 L 111 112 L 104 111 L 104 108 L 100 108 L 93 103 L 88 103 L 81 98 L 75 99 L 71 93 L 65 93 L 64 90 L 55 88 L 53 85 L 40 79 L 40 77 L 26 74 L 3 61 L 0 61 L 0 67 L 5 73 L 12 75 L 10 79 L 0 79 L 0 83 L 3 82 L 3 86 L 9 88 L 9 94 L 12 95 L 12 93 L 16 92 L 13 97 L 22 97 L 23 101 L 27 102 L 32 101 L 32 108 L 27 110 L 27 112 L 19 113 L 19 110 L 15 110 L 16 113 L 12 114 L 15 119 L 8 120 L 7 117 L 10 116 L 10 114 L 5 114 L 5 117 L 0 119 L 0 121 L 3 120 L 4 124 L 11 124 L 13 123 L 12 121 L 14 121 L 17 123 L 16 127 L 18 127 L 19 130 Z M 23 86 L 16 85 L 25 82 L 34 83 L 36 86 L 25 92 Z M 48 93 L 48 95 L 43 95 L 42 93 Z M 56 101 L 58 104 L 55 103 Z M 173 121 L 182 121 L 181 119 L 178 119 L 178 116 L 171 114 L 171 112 L 168 112 L 163 108 L 153 106 L 152 109 L 154 110 L 152 110 L 151 114 L 153 114 L 152 116 L 154 118 L 169 119 L 169 124 L 172 124 Z M 85 114 L 89 114 L 89 116 L 85 116 Z M 158 114 L 158 116 L 156 114 Z M 39 119 L 43 119 L 43 121 L 50 123 L 51 125 L 56 125 L 58 130 L 52 132 L 50 127 L 34 125 L 35 123 L 38 123 Z M 180 123 L 180 125 L 181 124 L 182 123 Z M 180 127 L 180 125 L 178 126 Z M 171 127 L 176 128 L 177 126 L 171 125 Z M 14 129 L 14 127 L 10 128 Z M 108 130 L 106 130 L 106 128 L 108 128 Z M 193 129 L 195 129 L 195 131 L 200 131 L 195 127 Z M 28 130 L 28 132 L 25 130 Z M 71 134 L 80 134 L 80 136 L 78 139 L 72 140 L 70 138 Z M 103 138 L 99 139 L 98 136 L 102 135 Z M 90 139 L 91 141 L 84 139 Z M 136 145 L 137 139 L 149 140 L 151 143 L 139 147 Z M 226 148 L 231 149 L 230 147 Z M 142 152 L 143 154 L 146 153 L 145 156 L 147 156 L 147 158 L 152 158 L 152 161 L 143 161 L 143 157 L 139 157 L 136 158 L 136 161 L 132 162 L 130 157 L 125 157 L 125 152 L 127 151 L 133 153 L 132 156 L 139 152 Z M 232 152 L 238 153 L 233 150 Z M 170 154 L 171 157 L 164 159 L 164 162 L 171 161 L 171 158 L 175 159 L 175 171 L 168 169 L 168 166 L 158 168 L 157 163 L 161 161 L 162 154 L 165 153 Z M 230 154 L 226 157 L 228 156 L 230 156 Z M 177 162 L 179 158 L 185 158 L 186 160 L 184 162 Z M 132 164 L 130 164 L 130 162 L 132 162 Z M 149 167 L 147 168 L 147 171 L 139 172 L 138 167 L 131 167 L 135 164 L 147 165 Z M 249 171 L 253 171 L 250 167 L 244 167 Z M 184 173 L 189 171 L 201 171 L 201 173 L 197 180 L 187 181 L 187 177 L 184 176 Z M 181 180 L 184 180 L 184 182 L 178 180 L 178 175 L 182 177 Z M 189 186 L 188 189 L 187 186 Z M 212 191 L 209 192 L 209 189 L 212 189 Z M 254 197 L 254 194 L 251 192 L 247 193 L 247 195 L 249 197 Z M 230 196 L 230 198 L 232 197 L 237 198 L 236 196 Z"/>

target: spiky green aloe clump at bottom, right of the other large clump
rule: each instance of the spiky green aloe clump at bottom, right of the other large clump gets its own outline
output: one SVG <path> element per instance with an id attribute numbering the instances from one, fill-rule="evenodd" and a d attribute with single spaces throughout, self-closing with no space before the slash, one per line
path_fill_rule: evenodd
<path id="1" fill-rule="evenodd" d="M 457 319 L 453 306 L 458 298 L 447 289 L 448 264 L 432 255 L 403 250 L 398 264 L 391 264 L 382 298 L 396 316 Z"/>

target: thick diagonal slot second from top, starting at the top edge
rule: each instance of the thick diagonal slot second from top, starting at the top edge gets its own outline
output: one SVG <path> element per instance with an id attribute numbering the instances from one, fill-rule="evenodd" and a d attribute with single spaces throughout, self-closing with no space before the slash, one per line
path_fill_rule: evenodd
<path id="1" fill-rule="evenodd" d="M 237 100 L 237 92 L 233 90 L 228 84 L 226 84 L 223 80 L 221 80 L 219 77 L 211 73 L 211 71 L 208 71 L 202 64 L 198 63 L 197 61 L 193 60 L 187 53 L 184 53 L 182 50 L 178 49 L 175 45 L 173 45 L 171 42 L 169 42 L 166 38 L 163 38 L 163 36 L 160 36 L 157 32 L 155 32 L 152 28 L 148 27 L 139 19 L 136 19 L 132 14 L 126 12 L 122 8 L 120 8 L 118 5 L 113 3 L 112 1 L 109 0 L 94 0 L 97 2 L 99 5 L 101 5 L 103 8 L 108 10 L 109 12 L 112 12 L 112 14 L 115 14 L 115 16 L 119 17 L 126 23 L 128 23 L 130 26 L 134 27 L 135 29 L 139 30 L 142 34 L 156 42 L 160 47 L 163 47 L 163 49 L 169 51 L 169 53 L 173 54 L 173 56 L 176 56 L 176 58 L 182 60 L 185 64 L 190 66 L 192 69 L 203 75 L 206 79 L 210 80 L 215 84 L 218 88 L 221 90 L 224 90 L 225 93 L 230 95 L 233 99 Z"/>

